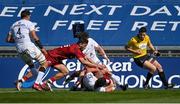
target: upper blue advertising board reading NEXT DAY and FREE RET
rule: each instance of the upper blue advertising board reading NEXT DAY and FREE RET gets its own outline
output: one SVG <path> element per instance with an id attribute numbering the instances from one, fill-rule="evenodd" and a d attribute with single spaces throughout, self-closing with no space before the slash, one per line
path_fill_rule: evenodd
<path id="1" fill-rule="evenodd" d="M 9 2 L 8 2 L 9 1 Z M 24 1 L 24 3 L 23 3 Z M 44 45 L 75 42 L 72 24 L 80 22 L 90 37 L 103 46 L 121 46 L 147 26 L 154 45 L 180 45 L 179 1 L 159 0 L 6 0 L 0 4 L 0 46 L 13 22 L 24 9 L 31 11 L 31 21 Z M 103 37 L 103 38 L 102 38 Z"/>

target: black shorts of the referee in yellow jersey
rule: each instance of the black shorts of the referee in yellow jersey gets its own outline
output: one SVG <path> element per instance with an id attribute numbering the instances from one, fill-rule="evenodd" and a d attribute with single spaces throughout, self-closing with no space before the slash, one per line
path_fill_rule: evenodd
<path id="1" fill-rule="evenodd" d="M 144 55 L 142 57 L 139 58 L 134 58 L 134 62 L 136 63 L 136 65 L 143 67 L 143 64 L 146 60 L 150 60 L 152 57 L 150 55 Z"/>

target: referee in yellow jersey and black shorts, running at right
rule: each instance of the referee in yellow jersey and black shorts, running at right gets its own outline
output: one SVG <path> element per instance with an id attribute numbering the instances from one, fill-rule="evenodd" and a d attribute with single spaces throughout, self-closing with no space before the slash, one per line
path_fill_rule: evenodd
<path id="1" fill-rule="evenodd" d="M 137 36 L 132 37 L 128 44 L 125 46 L 126 50 L 133 53 L 134 62 L 141 68 L 145 68 L 149 71 L 143 87 L 145 89 L 149 88 L 149 80 L 157 70 L 159 77 L 164 84 L 164 88 L 173 88 L 174 84 L 168 84 L 161 64 L 148 54 L 148 48 L 154 55 L 160 55 L 160 53 L 154 48 L 153 44 L 151 43 L 149 36 L 146 34 L 145 27 L 140 28 Z"/>

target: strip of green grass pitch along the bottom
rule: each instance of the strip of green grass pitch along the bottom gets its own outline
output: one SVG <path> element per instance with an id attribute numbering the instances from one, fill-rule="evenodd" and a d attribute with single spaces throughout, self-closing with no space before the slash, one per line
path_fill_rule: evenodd
<path id="1" fill-rule="evenodd" d="M 111 93 L 69 91 L 38 92 L 0 89 L 0 103 L 180 103 L 180 89 L 128 89 Z"/>

